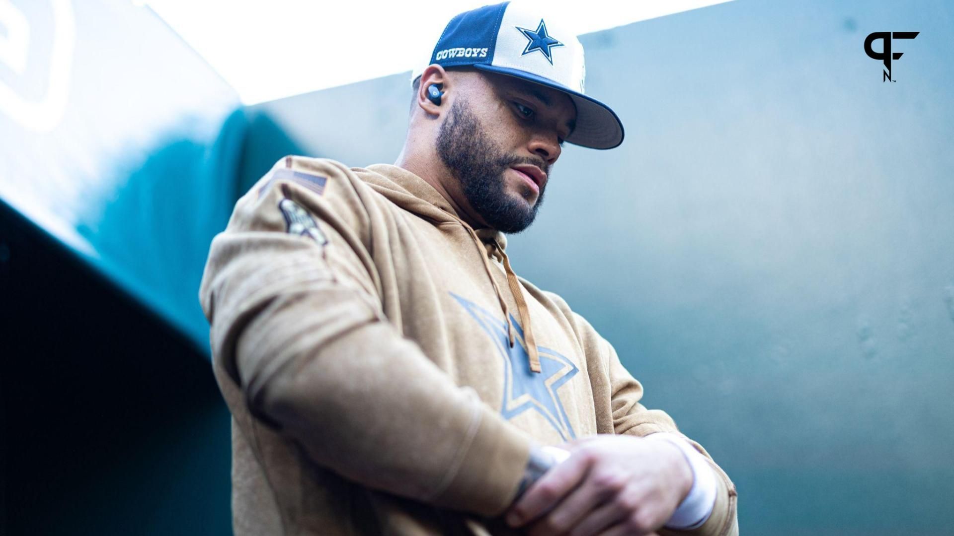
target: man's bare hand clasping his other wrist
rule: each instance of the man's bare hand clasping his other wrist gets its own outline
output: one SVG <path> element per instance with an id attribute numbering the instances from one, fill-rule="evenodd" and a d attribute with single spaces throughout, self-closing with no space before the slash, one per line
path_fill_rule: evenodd
<path id="1" fill-rule="evenodd" d="M 510 507 L 508 525 L 531 536 L 651 534 L 693 484 L 692 468 L 667 441 L 599 435 L 563 446 L 570 458 Z"/>

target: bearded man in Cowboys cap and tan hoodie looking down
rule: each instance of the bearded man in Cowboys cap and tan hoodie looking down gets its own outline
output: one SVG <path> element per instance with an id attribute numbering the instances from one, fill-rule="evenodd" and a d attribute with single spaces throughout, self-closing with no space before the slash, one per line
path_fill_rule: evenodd
<path id="1" fill-rule="evenodd" d="M 737 533 L 725 473 L 505 253 L 565 141 L 622 142 L 578 40 L 488 6 L 414 78 L 395 165 L 286 157 L 213 242 L 236 533 Z"/>

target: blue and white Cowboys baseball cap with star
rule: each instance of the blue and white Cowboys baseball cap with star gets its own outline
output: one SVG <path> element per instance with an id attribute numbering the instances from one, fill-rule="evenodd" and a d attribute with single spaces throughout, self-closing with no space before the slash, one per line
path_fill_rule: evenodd
<path id="1" fill-rule="evenodd" d="M 592 149 L 623 142 L 616 113 L 585 92 L 583 45 L 560 21 L 524 4 L 504 2 L 450 19 L 427 65 L 472 67 L 521 78 L 570 95 L 576 127 L 566 141 Z M 413 83 L 426 66 L 411 73 Z"/>

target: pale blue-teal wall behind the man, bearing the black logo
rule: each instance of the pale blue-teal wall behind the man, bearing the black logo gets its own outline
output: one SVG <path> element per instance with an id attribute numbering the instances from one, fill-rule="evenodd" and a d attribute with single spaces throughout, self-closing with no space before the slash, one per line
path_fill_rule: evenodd
<path id="1" fill-rule="evenodd" d="M 897 82 L 862 50 L 901 41 Z M 515 270 L 562 294 L 735 479 L 745 534 L 954 526 L 954 15 L 725 5 L 582 37 L 616 150 L 569 147 Z M 258 107 L 393 162 L 407 75 Z"/>

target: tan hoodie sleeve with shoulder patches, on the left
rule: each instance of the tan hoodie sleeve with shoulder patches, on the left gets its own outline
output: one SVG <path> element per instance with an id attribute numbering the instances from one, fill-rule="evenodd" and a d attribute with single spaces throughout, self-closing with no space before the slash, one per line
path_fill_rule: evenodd
<path id="1" fill-rule="evenodd" d="M 529 441 L 384 316 L 367 246 L 374 193 L 358 181 L 337 162 L 288 157 L 239 199 L 199 292 L 218 381 L 347 479 L 497 515 Z"/>

